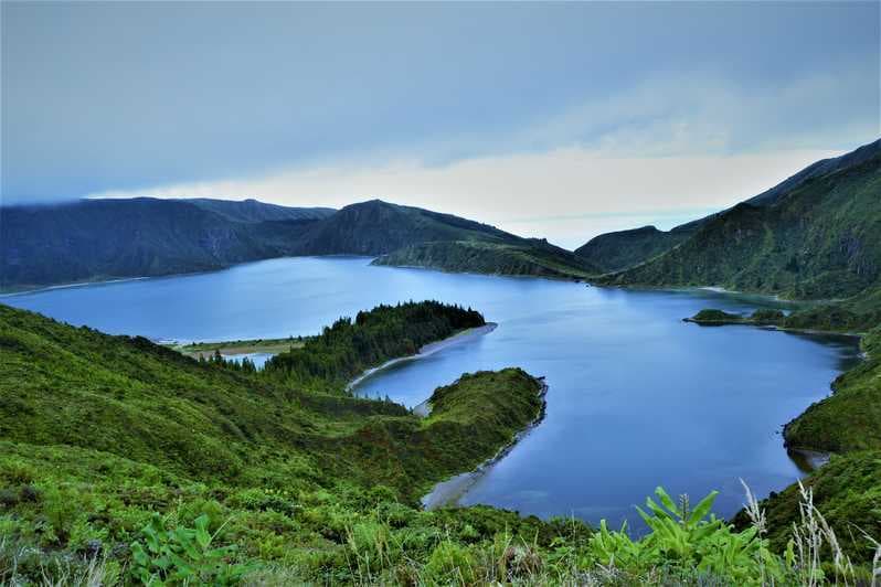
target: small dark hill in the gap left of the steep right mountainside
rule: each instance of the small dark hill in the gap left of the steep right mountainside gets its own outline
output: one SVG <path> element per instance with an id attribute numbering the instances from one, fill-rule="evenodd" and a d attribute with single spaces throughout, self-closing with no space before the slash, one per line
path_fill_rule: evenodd
<path id="1" fill-rule="evenodd" d="M 667 253 L 686 241 L 697 225 L 684 224 L 662 232 L 655 226 L 601 234 L 575 249 L 575 254 L 593 264 L 599 273 L 619 271 Z"/>

